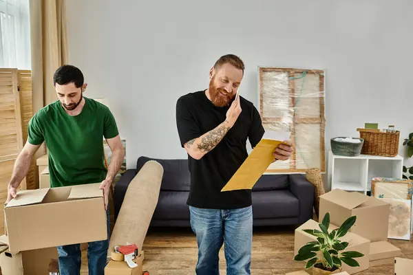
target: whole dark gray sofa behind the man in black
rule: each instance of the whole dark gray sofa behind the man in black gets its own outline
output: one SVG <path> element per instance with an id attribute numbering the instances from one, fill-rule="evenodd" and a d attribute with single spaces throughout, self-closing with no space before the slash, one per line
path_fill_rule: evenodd
<path id="1" fill-rule="evenodd" d="M 114 188 L 115 219 L 127 186 L 153 158 L 139 157 Z M 189 227 L 189 169 L 187 159 L 153 159 L 164 168 L 158 204 L 150 226 Z M 253 187 L 253 225 L 298 225 L 313 217 L 314 187 L 304 175 L 262 175 Z M 139 203 L 139 201 L 136 201 Z"/>

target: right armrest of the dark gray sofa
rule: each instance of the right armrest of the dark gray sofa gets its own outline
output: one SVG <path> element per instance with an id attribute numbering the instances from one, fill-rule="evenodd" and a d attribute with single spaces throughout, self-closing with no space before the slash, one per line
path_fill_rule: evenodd
<path id="1" fill-rule="evenodd" d="M 299 201 L 299 223 L 313 218 L 314 186 L 301 174 L 288 175 L 290 192 Z"/>

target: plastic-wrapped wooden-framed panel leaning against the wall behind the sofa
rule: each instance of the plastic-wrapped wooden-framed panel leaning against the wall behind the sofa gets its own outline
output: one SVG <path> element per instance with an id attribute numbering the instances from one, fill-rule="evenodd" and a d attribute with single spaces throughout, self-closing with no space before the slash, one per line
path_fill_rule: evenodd
<path id="1" fill-rule="evenodd" d="M 325 172 L 324 71 L 260 67 L 260 115 L 264 128 L 290 131 L 293 155 L 266 173 Z"/>

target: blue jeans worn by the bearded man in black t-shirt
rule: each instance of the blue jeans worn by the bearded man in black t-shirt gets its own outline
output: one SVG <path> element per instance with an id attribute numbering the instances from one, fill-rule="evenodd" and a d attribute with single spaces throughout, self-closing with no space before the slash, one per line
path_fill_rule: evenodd
<path id="1" fill-rule="evenodd" d="M 191 228 L 198 243 L 197 275 L 220 274 L 219 252 L 224 243 L 226 274 L 251 274 L 253 208 L 217 210 L 189 206 Z"/>

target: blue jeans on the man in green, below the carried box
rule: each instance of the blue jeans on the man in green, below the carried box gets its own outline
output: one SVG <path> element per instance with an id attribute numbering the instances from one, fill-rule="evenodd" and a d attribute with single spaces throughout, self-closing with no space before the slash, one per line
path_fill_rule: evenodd
<path id="1" fill-rule="evenodd" d="M 89 261 L 89 275 L 105 275 L 107 250 L 109 249 L 109 206 L 106 210 L 107 239 L 105 241 L 93 241 L 87 247 L 87 259 Z M 58 246 L 59 274 L 81 274 L 81 245 Z"/>

